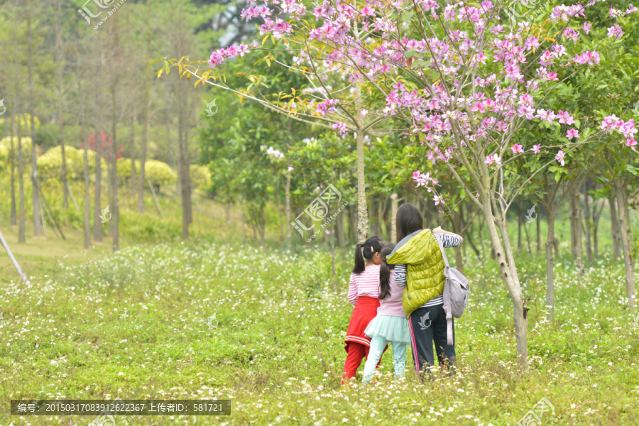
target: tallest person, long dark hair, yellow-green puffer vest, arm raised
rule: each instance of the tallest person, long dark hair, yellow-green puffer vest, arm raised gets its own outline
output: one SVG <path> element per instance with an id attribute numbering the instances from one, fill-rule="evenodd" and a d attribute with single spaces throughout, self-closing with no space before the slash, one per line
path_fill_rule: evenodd
<path id="1" fill-rule="evenodd" d="M 435 342 L 439 366 L 455 364 L 454 345 L 447 344 L 447 322 L 444 312 L 444 258 L 439 249 L 457 247 L 461 236 L 439 226 L 432 231 L 422 229 L 423 219 L 413 204 L 402 204 L 395 218 L 397 246 L 388 256 L 395 264 L 395 283 L 403 285 L 402 307 L 408 318 L 410 345 L 415 369 L 420 374 L 435 365 L 432 344 Z M 454 337 L 454 323 L 453 323 Z"/>

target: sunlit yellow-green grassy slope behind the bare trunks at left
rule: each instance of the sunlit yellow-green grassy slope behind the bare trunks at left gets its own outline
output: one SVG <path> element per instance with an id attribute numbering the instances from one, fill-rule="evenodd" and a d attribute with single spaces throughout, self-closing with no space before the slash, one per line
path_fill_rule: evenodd
<path id="1" fill-rule="evenodd" d="M 34 283 L 42 280 L 45 275 L 57 276 L 61 271 L 58 261 L 62 258 L 67 265 L 76 265 L 112 253 L 112 239 L 108 235 L 108 224 L 102 224 L 104 234 L 102 243 L 93 241 L 93 228 L 91 229 L 92 249 L 84 250 L 82 213 L 76 211 L 71 200 L 69 200 L 70 208 L 67 211 L 62 210 L 62 196 L 58 188 L 45 187 L 45 196 L 52 206 L 54 214 L 62 222 L 62 232 L 65 234 L 66 240 L 56 236 L 49 224 L 46 224 L 47 238 L 33 238 L 31 187 L 26 187 L 26 244 L 18 244 L 18 227 L 11 226 L 9 219 L 11 202 L 9 184 L 6 183 L 4 189 L 0 190 L 2 200 L 0 202 L 0 230 L 9 244 L 13 256 L 16 257 L 23 271 L 32 278 Z M 83 194 L 79 193 L 80 189 L 75 187 L 73 190 L 75 197 L 83 197 Z M 119 237 L 121 249 L 135 245 L 151 247 L 160 241 L 180 238 L 182 232 L 181 204 L 180 199 L 175 196 L 175 187 L 163 187 L 160 192 L 160 208 L 164 218 L 158 214 L 148 191 L 144 203 L 145 214 L 137 213 L 136 198 L 132 196 L 131 192 L 126 192 L 126 189 L 122 187 L 119 191 L 119 195 L 123 197 L 120 200 L 121 228 Z M 91 196 L 93 199 L 93 192 Z M 195 192 L 193 198 L 195 208 L 193 210 L 194 223 L 190 226 L 192 236 L 214 235 L 219 239 L 226 239 L 232 234 L 238 234 L 241 213 L 237 209 L 231 209 L 231 224 L 227 224 L 224 220 L 224 208 L 221 205 L 207 199 L 199 191 Z M 83 200 L 77 201 L 80 203 L 79 207 L 82 212 Z M 105 189 L 102 194 L 102 206 L 106 207 L 108 203 Z M 93 210 L 91 211 L 91 221 L 94 226 Z M 11 280 L 18 280 L 18 274 L 11 264 L 9 256 L 6 256 L 4 249 L 0 247 L 0 282 L 9 283 Z"/>

